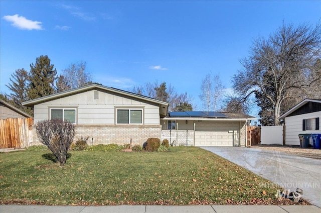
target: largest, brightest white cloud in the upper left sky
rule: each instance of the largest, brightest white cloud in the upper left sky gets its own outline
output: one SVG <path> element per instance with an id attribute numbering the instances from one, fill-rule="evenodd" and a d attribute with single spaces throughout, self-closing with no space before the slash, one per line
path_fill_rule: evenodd
<path id="1" fill-rule="evenodd" d="M 12 22 L 13 26 L 18 27 L 20 29 L 28 29 L 28 30 L 44 29 L 41 25 L 42 22 L 36 21 L 36 20 L 35 21 L 29 20 L 24 16 L 19 16 L 19 14 L 5 15 L 3 18 L 9 22 Z"/>

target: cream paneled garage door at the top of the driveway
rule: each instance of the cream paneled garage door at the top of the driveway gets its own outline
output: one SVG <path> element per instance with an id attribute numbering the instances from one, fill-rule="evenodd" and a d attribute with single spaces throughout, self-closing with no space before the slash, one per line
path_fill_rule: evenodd
<path id="1" fill-rule="evenodd" d="M 196 122 L 196 146 L 238 145 L 238 122 Z"/>

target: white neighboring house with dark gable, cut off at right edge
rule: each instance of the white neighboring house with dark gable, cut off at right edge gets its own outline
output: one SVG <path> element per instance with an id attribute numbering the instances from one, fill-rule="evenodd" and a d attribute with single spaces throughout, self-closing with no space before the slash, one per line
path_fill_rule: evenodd
<path id="1" fill-rule="evenodd" d="M 304 99 L 278 119 L 285 121 L 285 144 L 299 145 L 298 134 L 321 133 L 321 99 Z"/>

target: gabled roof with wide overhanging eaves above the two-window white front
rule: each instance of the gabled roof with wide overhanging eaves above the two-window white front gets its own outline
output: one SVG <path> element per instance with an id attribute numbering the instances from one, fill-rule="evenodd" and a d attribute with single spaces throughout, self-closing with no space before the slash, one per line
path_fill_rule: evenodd
<path id="1" fill-rule="evenodd" d="M 39 97 L 33 100 L 28 100 L 23 102 L 23 105 L 26 106 L 30 106 L 33 107 L 35 104 L 41 103 L 41 102 L 46 102 L 52 99 L 56 99 L 59 97 L 65 97 L 65 96 L 69 96 L 69 95 L 73 95 L 75 93 L 79 93 L 79 92 L 83 92 L 83 91 L 88 91 L 88 90 L 92 90 L 92 89 L 101 89 L 104 91 L 109 91 L 109 92 L 115 92 L 118 94 L 123 94 L 123 95 L 127 95 L 130 97 L 135 97 L 135 98 L 139 98 L 142 100 L 146 100 L 146 101 L 150 101 L 156 104 L 159 104 L 159 113 L 162 114 L 163 116 L 165 116 L 167 114 L 167 110 L 168 110 L 168 105 L 169 103 L 161 101 L 161 100 L 156 100 L 154 98 L 151 97 L 147 97 L 144 95 L 140 95 L 140 94 L 135 94 L 133 92 L 129 92 L 129 91 L 125 91 L 125 90 L 121 90 L 121 89 L 117 89 L 117 88 L 113 88 L 113 87 L 107 87 L 107 86 L 103 86 L 103 85 L 99 85 L 99 84 L 90 84 L 90 85 L 86 85 L 86 86 L 82 86 L 79 88 L 75 88 L 75 89 L 71 89 L 68 91 L 63 91 L 63 92 L 59 92 L 56 94 L 51 94 L 45 97 Z"/>

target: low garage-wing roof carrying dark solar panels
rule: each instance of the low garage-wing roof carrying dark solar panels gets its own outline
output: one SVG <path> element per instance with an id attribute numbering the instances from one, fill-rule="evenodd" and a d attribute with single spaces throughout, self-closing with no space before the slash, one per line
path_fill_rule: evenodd
<path id="1" fill-rule="evenodd" d="M 217 111 L 174 111 L 164 119 L 176 120 L 255 120 L 256 117 L 240 112 L 217 112 Z"/>

